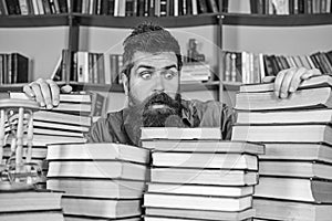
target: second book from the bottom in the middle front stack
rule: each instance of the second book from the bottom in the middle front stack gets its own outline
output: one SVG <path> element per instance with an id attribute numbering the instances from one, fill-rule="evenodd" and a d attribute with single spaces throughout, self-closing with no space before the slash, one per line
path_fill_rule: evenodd
<path id="1" fill-rule="evenodd" d="M 191 210 L 242 211 L 251 208 L 252 196 L 241 198 L 221 198 L 186 194 L 144 194 L 144 207 L 177 208 Z"/>

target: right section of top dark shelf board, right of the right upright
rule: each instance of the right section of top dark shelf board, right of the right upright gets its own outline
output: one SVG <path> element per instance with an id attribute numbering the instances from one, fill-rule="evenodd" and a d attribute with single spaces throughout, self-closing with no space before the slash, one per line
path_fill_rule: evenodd
<path id="1" fill-rule="evenodd" d="M 332 24 L 332 13 L 321 14 L 240 14 L 224 13 L 222 24 L 258 27 L 301 27 Z"/>

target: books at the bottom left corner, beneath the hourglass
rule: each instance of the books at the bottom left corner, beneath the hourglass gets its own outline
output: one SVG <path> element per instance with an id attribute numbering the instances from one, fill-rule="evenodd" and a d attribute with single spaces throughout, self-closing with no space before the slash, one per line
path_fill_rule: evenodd
<path id="1" fill-rule="evenodd" d="M 63 221 L 61 196 L 49 191 L 0 191 L 0 220 Z"/>

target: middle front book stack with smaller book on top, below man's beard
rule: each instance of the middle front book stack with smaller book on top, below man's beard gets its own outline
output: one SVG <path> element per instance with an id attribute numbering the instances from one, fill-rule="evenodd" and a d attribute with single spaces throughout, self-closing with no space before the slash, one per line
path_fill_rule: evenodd
<path id="1" fill-rule="evenodd" d="M 152 150 L 146 221 L 247 220 L 263 146 L 221 140 L 220 128 L 142 128 Z"/>

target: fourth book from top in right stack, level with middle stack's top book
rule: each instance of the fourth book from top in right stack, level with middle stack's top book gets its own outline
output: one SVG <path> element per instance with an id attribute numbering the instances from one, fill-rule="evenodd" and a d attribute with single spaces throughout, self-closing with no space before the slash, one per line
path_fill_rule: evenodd
<path id="1" fill-rule="evenodd" d="M 329 125 L 235 125 L 232 140 L 263 143 L 326 143 L 332 144 Z"/>

